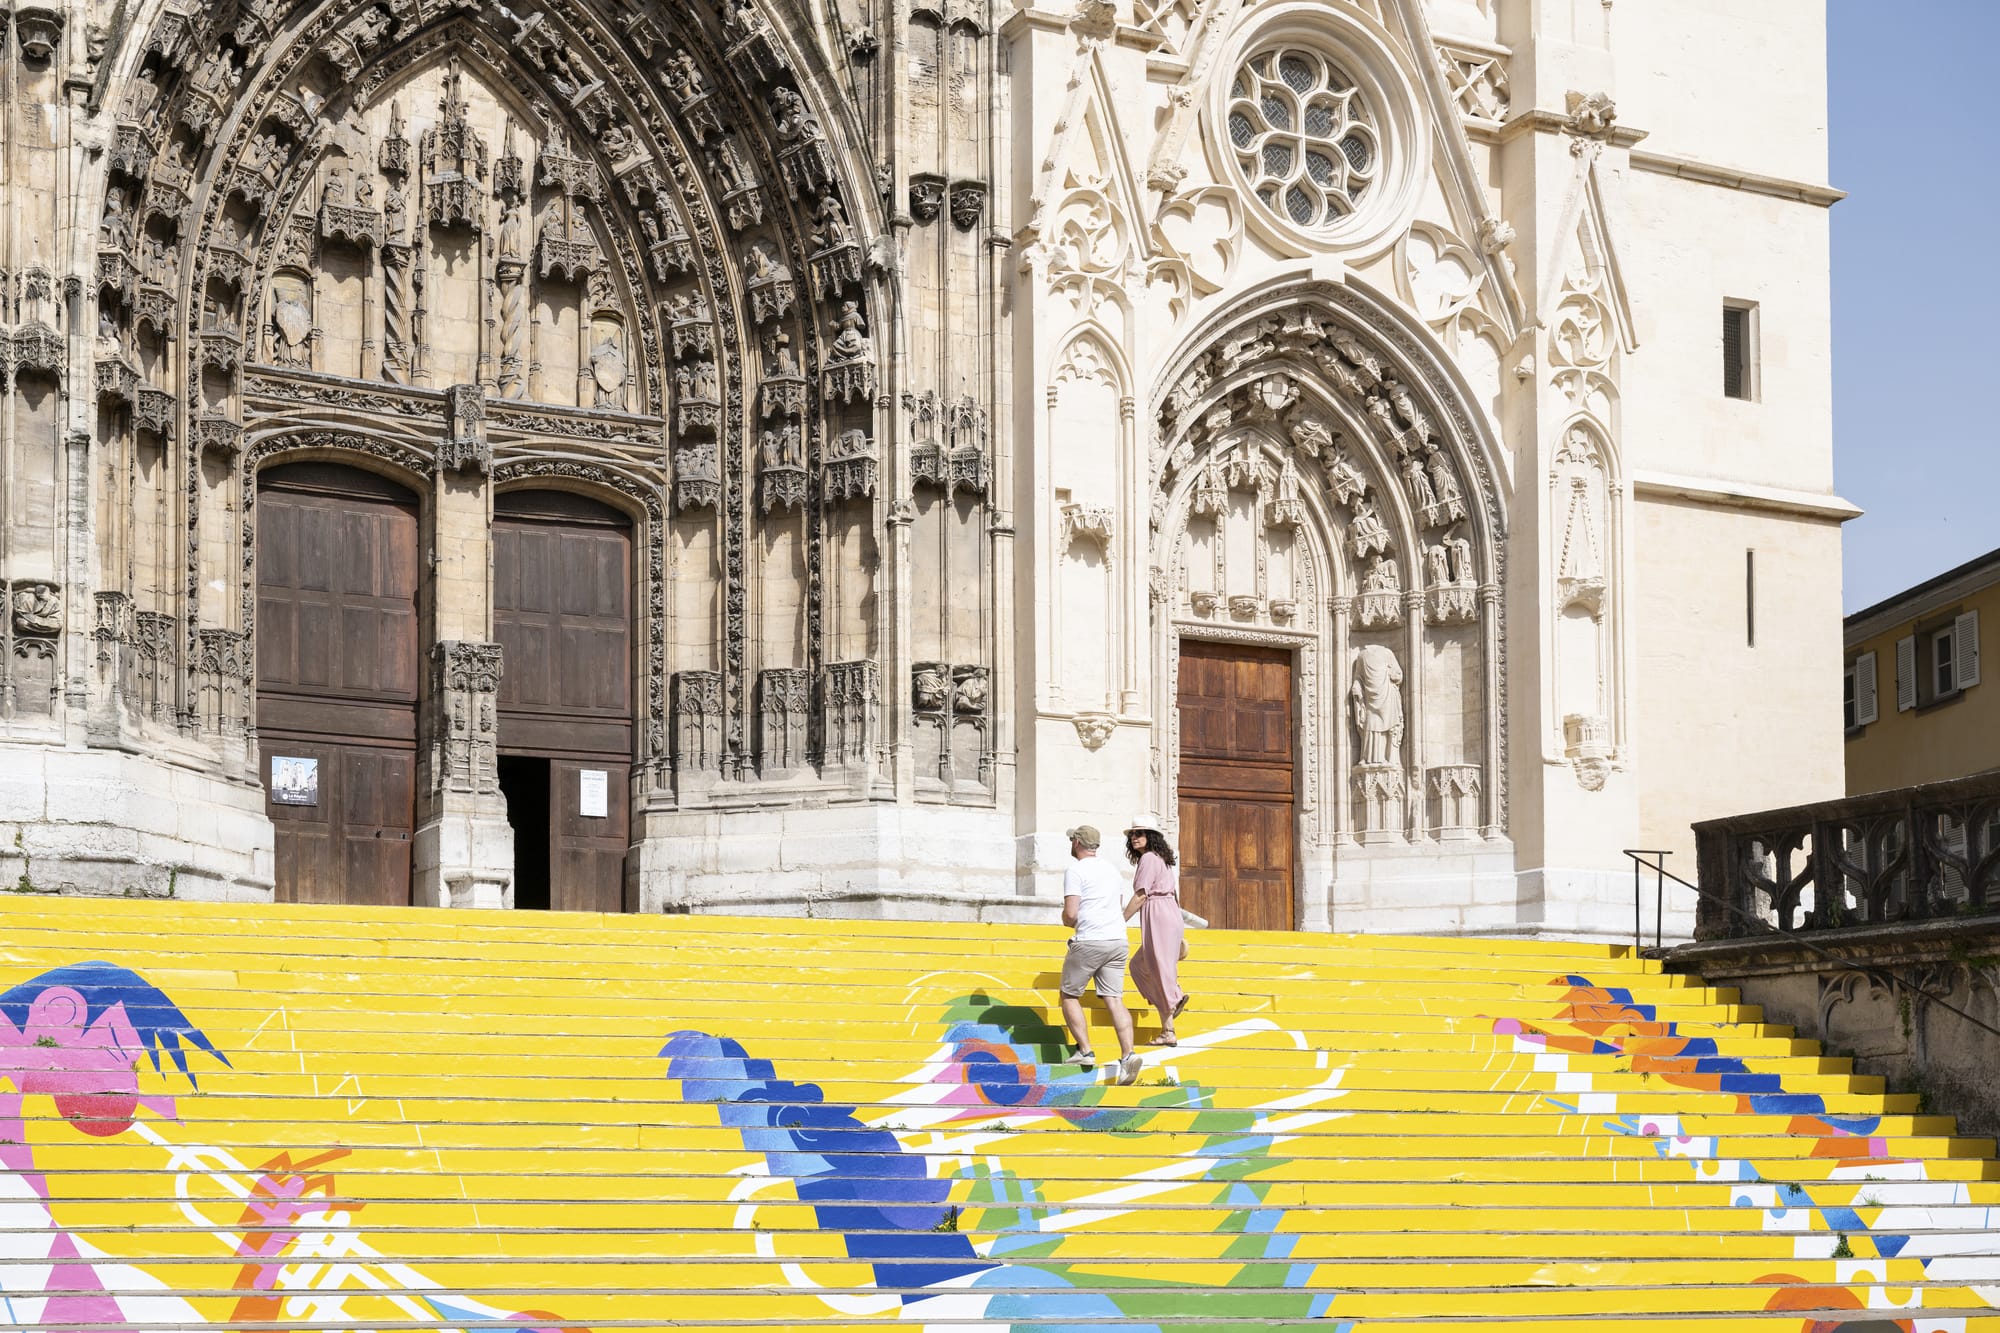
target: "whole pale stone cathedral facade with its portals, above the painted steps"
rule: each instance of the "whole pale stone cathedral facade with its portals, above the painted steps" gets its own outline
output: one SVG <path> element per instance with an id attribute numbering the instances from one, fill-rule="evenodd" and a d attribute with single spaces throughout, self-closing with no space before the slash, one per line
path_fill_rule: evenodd
<path id="1" fill-rule="evenodd" d="M 1624 929 L 1840 791 L 1756 10 L 8 0 L 0 871 Z"/>

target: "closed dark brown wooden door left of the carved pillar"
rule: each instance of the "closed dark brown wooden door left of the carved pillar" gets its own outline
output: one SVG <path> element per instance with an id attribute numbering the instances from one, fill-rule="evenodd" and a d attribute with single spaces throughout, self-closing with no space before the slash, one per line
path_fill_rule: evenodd
<path id="1" fill-rule="evenodd" d="M 258 741 L 282 903 L 410 901 L 418 506 L 324 462 L 256 504 Z"/>

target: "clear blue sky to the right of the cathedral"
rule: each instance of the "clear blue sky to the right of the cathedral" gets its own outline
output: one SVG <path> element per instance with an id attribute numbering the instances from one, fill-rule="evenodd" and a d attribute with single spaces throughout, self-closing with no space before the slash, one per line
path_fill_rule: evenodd
<path id="1" fill-rule="evenodd" d="M 1754 2 L 1754 0 L 1750 0 Z M 2000 0 L 1828 0 L 1848 610 L 2000 546 Z"/>

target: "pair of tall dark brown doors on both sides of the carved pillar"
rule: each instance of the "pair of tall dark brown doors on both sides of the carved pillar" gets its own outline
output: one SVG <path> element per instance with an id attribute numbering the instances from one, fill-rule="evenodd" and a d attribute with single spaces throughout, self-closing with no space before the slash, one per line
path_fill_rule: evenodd
<path id="1" fill-rule="evenodd" d="M 418 498 L 360 468 L 258 478 L 258 739 L 286 903 L 410 903 L 422 642 Z M 602 504 L 502 494 L 494 634 L 516 903 L 624 907 L 632 532 Z"/>

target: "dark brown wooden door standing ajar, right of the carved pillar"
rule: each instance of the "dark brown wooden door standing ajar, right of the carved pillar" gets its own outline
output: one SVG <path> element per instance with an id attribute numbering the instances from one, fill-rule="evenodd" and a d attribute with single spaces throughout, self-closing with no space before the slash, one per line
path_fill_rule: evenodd
<path id="1" fill-rule="evenodd" d="M 548 761 L 546 901 L 558 911 L 620 911 L 634 741 L 624 514 L 556 490 L 498 496 L 494 636 L 504 662 L 500 753 Z M 586 791 L 602 791 L 602 807 L 592 799 L 586 811 Z M 534 819 L 522 801 L 510 809 L 516 821 Z M 538 871 L 518 867 L 522 883 Z"/>

